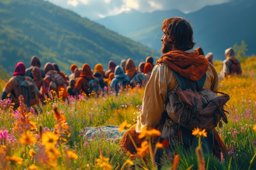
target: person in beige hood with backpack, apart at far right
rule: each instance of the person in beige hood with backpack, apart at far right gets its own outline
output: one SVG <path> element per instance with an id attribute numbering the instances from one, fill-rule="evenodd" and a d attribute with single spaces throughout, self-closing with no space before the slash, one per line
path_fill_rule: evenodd
<path id="1" fill-rule="evenodd" d="M 240 61 L 236 58 L 235 51 L 231 47 L 225 50 L 225 60 L 222 62 L 220 78 L 228 75 L 241 75 L 242 69 Z"/>

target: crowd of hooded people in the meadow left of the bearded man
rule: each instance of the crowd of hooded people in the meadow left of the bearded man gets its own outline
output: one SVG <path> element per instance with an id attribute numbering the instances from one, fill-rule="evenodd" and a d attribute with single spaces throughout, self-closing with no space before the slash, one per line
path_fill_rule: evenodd
<path id="1" fill-rule="evenodd" d="M 60 71 L 57 63 L 47 62 L 41 68 L 39 58 L 33 56 L 31 66 L 27 68 L 24 63 L 17 63 L 13 76 L 2 90 L 1 99 L 9 97 L 15 103 L 15 108 L 18 108 L 21 85 L 20 81 L 15 79 L 16 77 L 27 79 L 34 84 L 42 104 L 45 99 L 49 98 L 51 91 L 55 91 L 56 95 L 62 99 L 69 95 L 78 96 L 79 94 L 97 96 L 106 91 L 104 88 L 118 95 L 128 87 L 145 87 L 153 69 L 153 62 L 154 59 L 151 56 L 146 57 L 146 60 L 139 63 L 138 67 L 131 58 L 122 60 L 119 65 L 110 60 L 106 71 L 100 63 L 96 64 L 94 69 L 88 63 L 84 63 L 82 68 L 71 64 L 71 74 L 65 75 Z M 26 101 L 25 104 L 27 104 Z"/>

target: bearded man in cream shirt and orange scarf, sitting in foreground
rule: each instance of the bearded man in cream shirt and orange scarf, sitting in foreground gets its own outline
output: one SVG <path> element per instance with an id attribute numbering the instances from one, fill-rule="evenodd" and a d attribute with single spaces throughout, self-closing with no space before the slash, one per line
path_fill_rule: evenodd
<path id="1" fill-rule="evenodd" d="M 163 36 L 161 52 L 164 53 L 157 60 L 151 77 L 146 85 L 141 113 L 138 117 L 135 130 L 141 132 L 144 126 L 147 129 L 156 128 L 161 120 L 166 117 L 164 112 L 164 103 L 169 97 L 168 92 L 174 91 L 178 86 L 174 72 L 191 81 L 198 81 L 201 78 L 206 80 L 203 88 L 218 91 L 219 79 L 218 73 L 208 60 L 199 55 L 193 47 L 193 29 L 191 24 L 184 18 L 174 17 L 164 20 L 162 24 Z M 177 139 L 181 139 L 182 145 L 189 150 L 191 146 L 198 145 L 198 138 L 192 135 L 192 131 L 185 127 L 178 129 L 180 132 Z M 176 139 L 176 138 L 174 138 Z M 180 140 L 179 140 L 180 141 Z M 157 149 L 155 161 L 164 165 L 164 159 L 173 161 L 175 145 L 178 141 L 169 141 L 168 138 L 160 138 L 164 145 L 163 149 Z M 204 152 L 212 152 L 214 142 L 213 130 L 207 133 L 207 137 L 202 139 L 202 148 Z M 167 157 L 164 156 L 164 151 Z M 168 162 L 168 161 L 167 161 Z M 159 166 L 160 168 L 160 166 Z"/>

